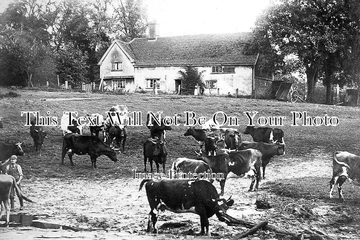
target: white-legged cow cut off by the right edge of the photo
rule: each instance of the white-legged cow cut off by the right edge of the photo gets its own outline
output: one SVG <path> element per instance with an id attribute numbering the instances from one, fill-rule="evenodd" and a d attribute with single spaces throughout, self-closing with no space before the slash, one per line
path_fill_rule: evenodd
<path id="1" fill-rule="evenodd" d="M 333 197 L 333 190 L 337 184 L 339 198 L 344 200 L 341 186 L 346 179 L 353 185 L 360 186 L 360 156 L 349 152 L 334 152 L 333 177 L 330 180 L 329 197 Z"/>

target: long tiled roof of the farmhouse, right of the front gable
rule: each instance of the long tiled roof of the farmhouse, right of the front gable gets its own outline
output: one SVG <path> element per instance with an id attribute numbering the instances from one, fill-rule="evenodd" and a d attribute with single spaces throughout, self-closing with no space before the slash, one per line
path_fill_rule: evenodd
<path id="1" fill-rule="evenodd" d="M 256 55 L 244 55 L 250 32 L 176 37 L 135 38 L 120 42 L 135 65 L 255 64 Z"/>

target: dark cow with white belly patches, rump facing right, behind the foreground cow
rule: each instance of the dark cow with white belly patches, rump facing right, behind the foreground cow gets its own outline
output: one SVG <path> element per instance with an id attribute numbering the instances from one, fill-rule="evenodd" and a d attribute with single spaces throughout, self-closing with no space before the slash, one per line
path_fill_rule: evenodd
<path id="1" fill-rule="evenodd" d="M 249 191 L 253 190 L 253 186 L 256 180 L 255 190 L 259 188 L 261 180 L 261 158 L 262 154 L 256 149 L 246 149 L 242 151 L 230 152 L 228 149 L 223 149 L 229 154 L 228 171 L 237 176 L 245 175 L 251 178 L 251 185 Z M 228 176 L 229 177 L 229 176 Z"/>

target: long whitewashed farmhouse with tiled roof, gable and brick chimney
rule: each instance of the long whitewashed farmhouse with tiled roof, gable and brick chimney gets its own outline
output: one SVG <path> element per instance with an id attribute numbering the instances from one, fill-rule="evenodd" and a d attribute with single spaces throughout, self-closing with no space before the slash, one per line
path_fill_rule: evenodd
<path id="1" fill-rule="evenodd" d="M 205 94 L 235 94 L 268 98 L 273 75 L 261 76 L 261 55 L 245 55 L 250 32 L 159 37 L 149 24 L 146 38 L 115 40 L 100 59 L 100 77 L 111 90 L 175 93 L 179 70 L 192 65 L 202 72 Z M 237 90 L 238 89 L 238 90 Z"/>

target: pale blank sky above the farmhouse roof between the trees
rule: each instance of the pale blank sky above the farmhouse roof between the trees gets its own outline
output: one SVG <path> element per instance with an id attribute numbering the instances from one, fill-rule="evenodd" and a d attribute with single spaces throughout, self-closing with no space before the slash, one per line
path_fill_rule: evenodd
<path id="1" fill-rule="evenodd" d="M 15 0 L 0 0 L 0 12 Z M 251 31 L 270 0 L 143 0 L 161 37 Z"/>

